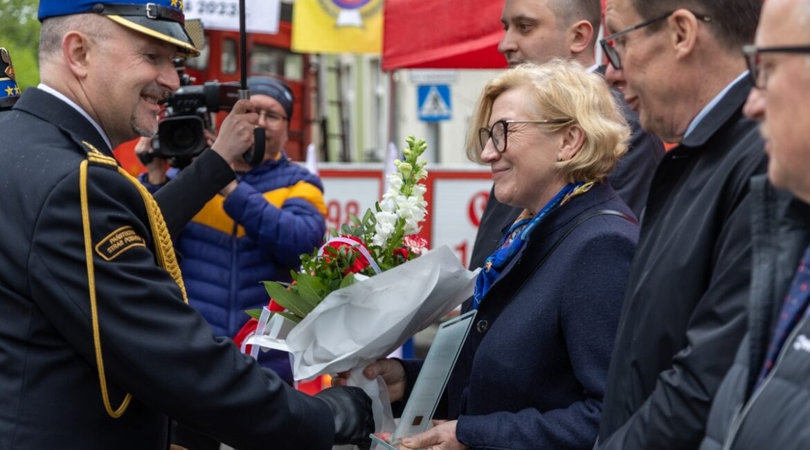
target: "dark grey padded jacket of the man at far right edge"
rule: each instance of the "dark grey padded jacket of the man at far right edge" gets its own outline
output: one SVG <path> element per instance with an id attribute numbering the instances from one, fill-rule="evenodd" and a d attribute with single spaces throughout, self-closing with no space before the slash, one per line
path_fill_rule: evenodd
<path id="1" fill-rule="evenodd" d="M 706 423 L 701 450 L 810 448 L 810 320 L 785 340 L 777 363 L 754 391 L 782 303 L 810 244 L 810 206 L 768 184 L 751 183 L 753 269 L 748 333 Z"/>

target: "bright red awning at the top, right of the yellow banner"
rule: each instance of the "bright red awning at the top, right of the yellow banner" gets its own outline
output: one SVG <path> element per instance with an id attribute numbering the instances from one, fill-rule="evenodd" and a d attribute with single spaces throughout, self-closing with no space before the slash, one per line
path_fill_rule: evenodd
<path id="1" fill-rule="evenodd" d="M 386 0 L 382 69 L 502 69 L 503 2 Z"/>

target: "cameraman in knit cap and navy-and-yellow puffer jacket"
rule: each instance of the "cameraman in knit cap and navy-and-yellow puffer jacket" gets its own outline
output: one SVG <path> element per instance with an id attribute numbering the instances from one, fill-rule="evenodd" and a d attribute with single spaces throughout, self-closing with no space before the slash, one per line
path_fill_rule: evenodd
<path id="1" fill-rule="evenodd" d="M 264 162 L 256 168 L 242 161 L 233 163 L 237 179 L 208 202 L 176 240 L 190 304 L 217 335 L 228 338 L 249 319 L 246 309 L 267 304 L 259 282 L 290 281 L 290 270 L 301 265 L 299 255 L 322 244 L 326 231 L 321 180 L 292 163 L 283 151 L 292 117 L 292 92 L 278 79 L 263 76 L 249 77 L 248 88 L 259 113 L 258 125 L 266 133 Z M 151 150 L 148 142 L 141 144 L 136 151 Z M 154 158 L 141 182 L 155 192 L 175 173 L 185 172 L 172 169 L 167 176 L 167 167 L 166 159 Z M 288 354 L 260 352 L 259 362 L 292 383 Z M 178 438 L 185 435 L 177 431 Z M 176 444 L 207 448 L 189 440 Z"/>

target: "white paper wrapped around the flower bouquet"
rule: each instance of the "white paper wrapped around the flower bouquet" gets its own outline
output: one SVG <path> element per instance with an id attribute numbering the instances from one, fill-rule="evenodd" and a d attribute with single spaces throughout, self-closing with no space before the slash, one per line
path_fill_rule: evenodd
<path id="1" fill-rule="evenodd" d="M 296 380 L 365 367 L 462 304 L 472 295 L 476 274 L 477 270 L 464 269 L 450 248 L 441 246 L 331 292 L 286 338 L 254 335 L 245 344 L 290 352 Z M 286 321 L 278 315 L 273 318 Z M 378 392 L 384 388 L 380 383 L 365 380 L 359 371 L 350 379 L 350 384 L 363 388 L 372 398 L 377 431 L 390 432 L 394 422 L 387 393 L 381 396 Z"/>

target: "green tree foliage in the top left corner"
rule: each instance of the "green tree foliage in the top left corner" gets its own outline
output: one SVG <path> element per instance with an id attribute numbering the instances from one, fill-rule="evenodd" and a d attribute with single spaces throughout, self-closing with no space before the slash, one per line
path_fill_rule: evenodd
<path id="1" fill-rule="evenodd" d="M 0 0 L 0 47 L 11 54 L 17 84 L 23 88 L 40 83 L 37 49 L 40 22 L 36 19 L 37 0 Z"/>

